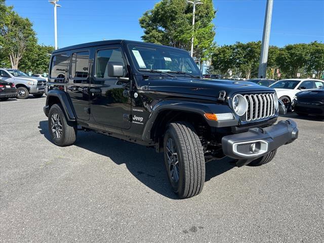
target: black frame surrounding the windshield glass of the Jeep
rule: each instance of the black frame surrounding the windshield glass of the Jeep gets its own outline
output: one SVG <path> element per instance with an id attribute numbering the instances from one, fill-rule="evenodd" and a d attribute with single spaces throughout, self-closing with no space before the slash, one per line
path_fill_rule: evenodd
<path id="1" fill-rule="evenodd" d="M 185 56 L 187 56 L 190 60 L 190 64 L 192 64 L 193 68 L 196 69 L 197 72 L 186 72 L 186 73 L 177 73 L 174 70 L 166 70 L 166 69 L 152 69 L 155 70 L 156 72 L 151 72 L 150 67 L 140 67 L 139 63 L 136 60 L 135 55 L 132 53 L 132 49 L 134 47 L 140 47 L 140 48 L 147 48 L 147 49 L 157 49 L 157 48 L 161 48 L 161 49 L 166 49 L 166 51 L 168 52 L 181 52 L 183 54 L 185 54 Z M 191 78 L 202 78 L 203 77 L 203 73 L 201 72 L 201 70 L 198 68 L 197 64 L 194 62 L 194 60 L 192 59 L 192 57 L 190 56 L 190 54 L 182 49 L 178 49 L 178 48 L 172 48 L 172 47 L 168 47 L 168 46 L 163 46 L 163 45 L 151 45 L 151 44 L 145 44 L 145 43 L 128 43 L 127 45 L 125 45 L 125 49 L 127 50 L 127 54 L 130 57 L 130 61 L 132 66 L 134 67 L 134 69 L 137 71 L 137 73 L 142 74 L 142 75 L 146 75 L 147 73 L 150 73 L 150 75 L 167 75 L 167 73 L 169 73 L 172 75 L 175 75 L 176 77 L 178 76 L 186 76 L 189 77 L 191 76 Z M 147 70 L 144 70 L 147 69 Z M 183 72 L 182 70 L 178 70 Z M 164 72 L 166 72 L 164 74 Z M 193 77 L 194 76 L 194 77 Z"/>

